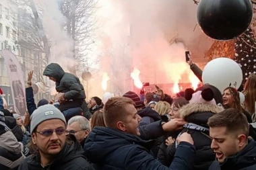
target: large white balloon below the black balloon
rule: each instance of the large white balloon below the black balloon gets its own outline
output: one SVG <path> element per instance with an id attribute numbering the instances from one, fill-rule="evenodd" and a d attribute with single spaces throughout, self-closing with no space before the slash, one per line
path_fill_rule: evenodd
<path id="1" fill-rule="evenodd" d="M 210 84 L 224 91 L 226 87 L 238 89 L 243 81 L 239 65 L 230 58 L 216 58 L 207 63 L 203 69 L 203 84 Z"/>

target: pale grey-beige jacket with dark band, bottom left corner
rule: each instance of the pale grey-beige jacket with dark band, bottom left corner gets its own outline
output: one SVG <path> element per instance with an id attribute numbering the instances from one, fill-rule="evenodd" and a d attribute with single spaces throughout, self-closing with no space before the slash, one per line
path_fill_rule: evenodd
<path id="1" fill-rule="evenodd" d="M 24 160 L 22 144 L 20 144 L 11 131 L 0 136 L 0 169 L 18 169 Z"/>

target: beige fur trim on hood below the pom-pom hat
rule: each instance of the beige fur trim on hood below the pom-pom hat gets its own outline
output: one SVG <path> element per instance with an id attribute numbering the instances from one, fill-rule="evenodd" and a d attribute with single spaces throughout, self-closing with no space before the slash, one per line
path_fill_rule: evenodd
<path id="1" fill-rule="evenodd" d="M 207 103 L 189 103 L 187 105 L 184 105 L 180 112 L 181 118 L 186 118 L 187 116 L 195 113 L 201 113 L 201 112 L 212 112 L 213 114 L 218 114 L 222 112 L 224 108 L 218 105 L 212 105 Z"/>

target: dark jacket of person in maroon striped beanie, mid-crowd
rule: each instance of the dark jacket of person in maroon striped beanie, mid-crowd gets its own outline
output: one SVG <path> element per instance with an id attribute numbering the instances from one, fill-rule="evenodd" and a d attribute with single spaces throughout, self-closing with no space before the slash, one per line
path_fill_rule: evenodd
<path id="1" fill-rule="evenodd" d="M 150 108 L 149 106 L 144 108 L 143 110 L 139 110 L 138 115 L 142 118 L 141 122 L 139 122 L 139 126 L 161 120 L 158 112 L 152 110 L 152 108 Z"/>

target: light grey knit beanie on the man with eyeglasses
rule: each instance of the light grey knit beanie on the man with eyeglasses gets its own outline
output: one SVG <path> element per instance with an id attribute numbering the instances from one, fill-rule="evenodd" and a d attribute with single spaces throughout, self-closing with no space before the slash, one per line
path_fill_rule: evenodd
<path id="1" fill-rule="evenodd" d="M 60 110 L 51 104 L 42 105 L 34 110 L 33 114 L 31 115 L 30 134 L 32 134 L 36 126 L 38 126 L 40 123 L 51 119 L 60 119 L 65 123 L 65 126 L 67 126 L 65 117 Z"/>

